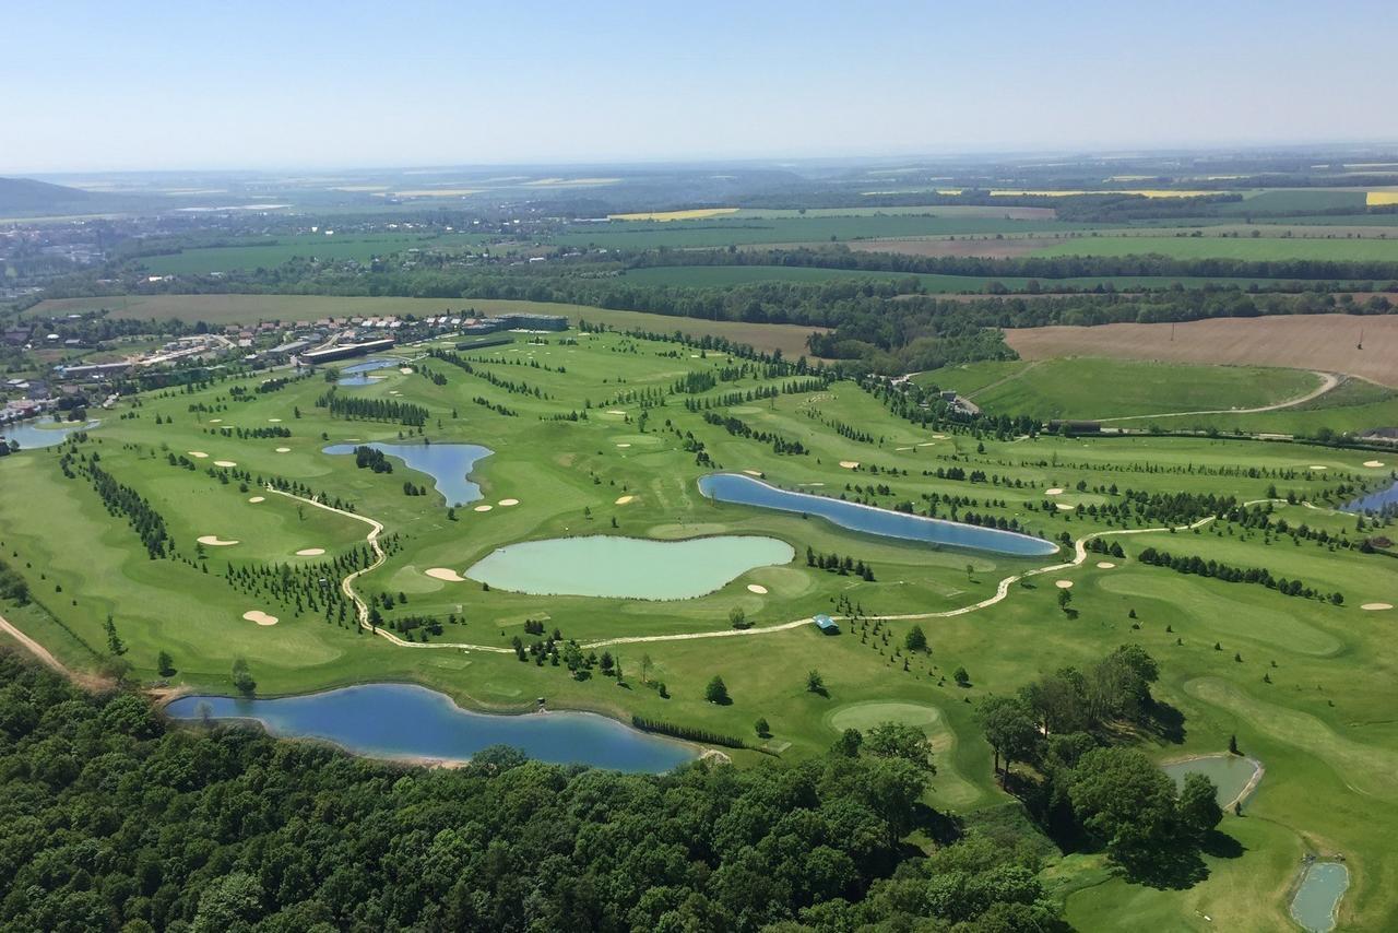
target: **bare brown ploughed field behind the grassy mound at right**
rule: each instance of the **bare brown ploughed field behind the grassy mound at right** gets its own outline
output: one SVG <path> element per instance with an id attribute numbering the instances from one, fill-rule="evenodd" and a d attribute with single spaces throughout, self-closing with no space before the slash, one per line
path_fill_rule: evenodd
<path id="1" fill-rule="evenodd" d="M 1360 330 L 1363 350 L 1359 348 Z M 1181 325 L 1016 327 L 1005 332 L 1005 341 L 1025 359 L 1116 357 L 1288 366 L 1342 372 L 1398 387 L 1398 315 L 1286 315 L 1216 318 Z"/>

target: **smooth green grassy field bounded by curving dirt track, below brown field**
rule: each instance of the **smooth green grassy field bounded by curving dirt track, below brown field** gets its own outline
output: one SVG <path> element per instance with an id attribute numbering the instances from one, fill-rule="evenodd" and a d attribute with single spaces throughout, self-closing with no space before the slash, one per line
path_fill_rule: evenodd
<path id="1" fill-rule="evenodd" d="M 917 379 L 953 389 L 993 414 L 1120 418 L 1173 411 L 1258 408 L 1299 399 L 1321 382 L 1310 372 L 1260 366 L 1190 366 L 1092 357 L 976 362 Z"/>

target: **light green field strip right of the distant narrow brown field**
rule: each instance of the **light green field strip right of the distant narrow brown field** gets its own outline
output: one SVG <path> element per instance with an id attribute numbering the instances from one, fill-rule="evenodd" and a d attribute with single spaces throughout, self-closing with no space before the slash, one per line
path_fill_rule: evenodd
<path id="1" fill-rule="evenodd" d="M 1170 256 L 1172 259 L 1321 259 L 1398 262 L 1398 239 L 1285 236 L 1079 236 L 1036 249 L 1033 256 Z"/>

